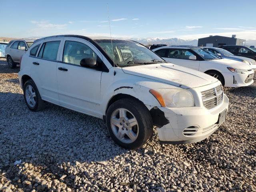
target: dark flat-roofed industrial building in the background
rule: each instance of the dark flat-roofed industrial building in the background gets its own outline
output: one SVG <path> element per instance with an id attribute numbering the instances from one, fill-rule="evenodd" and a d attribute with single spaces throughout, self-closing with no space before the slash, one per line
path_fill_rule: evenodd
<path id="1" fill-rule="evenodd" d="M 236 38 L 236 35 L 232 35 L 232 37 L 210 35 L 209 37 L 198 39 L 198 46 L 218 47 L 219 45 L 245 45 L 245 40 Z"/>

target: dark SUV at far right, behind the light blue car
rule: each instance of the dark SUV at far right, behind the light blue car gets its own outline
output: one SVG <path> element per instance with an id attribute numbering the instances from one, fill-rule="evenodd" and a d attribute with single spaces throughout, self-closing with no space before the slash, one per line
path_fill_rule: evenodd
<path id="1" fill-rule="evenodd" d="M 219 48 L 225 49 L 236 56 L 248 57 L 256 60 L 256 50 L 240 45 L 224 45 L 218 46 Z"/>

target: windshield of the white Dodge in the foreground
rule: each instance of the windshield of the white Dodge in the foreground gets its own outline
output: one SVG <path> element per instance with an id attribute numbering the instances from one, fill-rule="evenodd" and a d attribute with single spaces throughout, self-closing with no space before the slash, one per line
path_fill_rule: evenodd
<path id="1" fill-rule="evenodd" d="M 137 42 L 129 40 L 112 40 L 111 44 L 111 40 L 108 39 L 100 39 L 95 41 L 112 60 L 113 44 L 114 63 L 120 67 L 165 62 L 157 54 Z"/>

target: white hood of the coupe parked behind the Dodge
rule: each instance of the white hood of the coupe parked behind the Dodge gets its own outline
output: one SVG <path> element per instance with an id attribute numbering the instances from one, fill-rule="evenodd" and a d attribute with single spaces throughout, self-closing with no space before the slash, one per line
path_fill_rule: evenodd
<path id="1" fill-rule="evenodd" d="M 218 63 L 218 64 L 226 65 L 227 67 L 232 67 L 236 69 L 244 69 L 244 70 L 252 69 L 249 65 L 245 64 L 244 62 L 236 61 L 232 59 L 207 60 L 207 62 L 211 62 L 213 66 Z"/>

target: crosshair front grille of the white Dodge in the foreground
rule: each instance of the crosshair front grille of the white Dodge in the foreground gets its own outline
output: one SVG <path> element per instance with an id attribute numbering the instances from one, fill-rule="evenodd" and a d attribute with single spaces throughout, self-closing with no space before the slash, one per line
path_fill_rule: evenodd
<path id="1" fill-rule="evenodd" d="M 223 100 L 223 90 L 221 85 L 202 91 L 201 93 L 203 104 L 207 109 L 212 109 L 218 106 Z"/>

